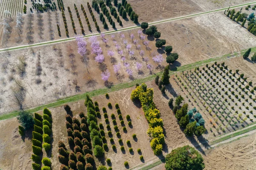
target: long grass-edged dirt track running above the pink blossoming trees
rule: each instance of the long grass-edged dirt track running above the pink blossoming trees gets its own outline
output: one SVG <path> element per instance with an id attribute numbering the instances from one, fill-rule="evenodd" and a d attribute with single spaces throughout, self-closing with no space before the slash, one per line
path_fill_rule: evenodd
<path id="1" fill-rule="evenodd" d="M 225 10 L 225 9 L 228 9 L 228 8 L 233 9 L 233 8 L 237 8 L 237 7 L 241 7 L 241 6 L 247 6 L 247 5 L 251 5 L 251 4 L 255 4 L 255 3 L 256 3 L 256 1 L 250 2 L 250 3 L 239 4 L 239 5 L 236 5 L 236 6 L 224 7 L 224 8 L 221 8 L 221 9 L 213 9 L 213 10 L 210 10 L 210 11 L 199 12 L 199 13 L 196 13 L 196 14 L 184 15 L 184 16 L 181 16 L 181 17 L 174 17 L 174 18 L 169 18 L 169 19 L 165 19 L 165 20 L 154 21 L 154 22 L 148 23 L 148 25 L 157 25 L 157 24 L 161 24 L 161 23 L 167 23 L 167 22 L 174 21 L 174 20 L 186 19 L 186 18 L 195 17 L 195 16 L 199 16 L 199 15 L 204 15 L 204 14 L 209 14 L 209 13 L 213 13 L 213 12 L 219 12 L 219 11 L 222 11 L 222 10 Z M 125 30 L 137 29 L 137 28 L 140 28 L 140 24 L 138 24 L 137 26 L 128 26 L 128 27 L 125 27 L 125 28 L 105 31 L 105 32 L 101 32 L 101 33 L 104 33 L 104 34 L 108 35 L 108 34 L 112 34 L 112 33 L 117 33 L 117 32 L 122 32 L 122 31 L 125 31 Z M 84 35 L 84 36 L 80 35 L 80 36 L 82 36 L 82 37 L 91 37 L 93 35 L 99 36 L 101 33 L 92 33 L 92 34 L 88 34 L 88 35 Z M 59 39 L 59 40 L 50 40 L 50 41 L 46 41 L 46 42 L 43 42 L 43 43 L 33 43 L 33 44 L 25 44 L 25 45 L 20 45 L 20 46 L 12 46 L 12 47 L 7 47 L 7 48 L 2 48 L 2 49 L 0 49 L 0 52 L 14 51 L 14 50 L 17 50 L 17 49 L 25 49 L 25 48 L 34 47 L 34 46 L 45 46 L 45 45 L 49 45 L 49 44 L 68 42 L 68 41 L 73 41 L 73 40 L 75 40 L 75 37 L 63 38 L 63 39 Z"/>

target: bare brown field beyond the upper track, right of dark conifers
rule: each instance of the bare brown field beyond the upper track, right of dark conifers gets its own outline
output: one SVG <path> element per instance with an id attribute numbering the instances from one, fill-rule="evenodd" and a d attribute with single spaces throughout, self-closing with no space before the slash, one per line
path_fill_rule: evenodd
<path id="1" fill-rule="evenodd" d="M 139 15 L 139 22 L 153 22 L 194 14 L 228 6 L 253 2 L 253 0 L 129 0 Z M 141 8 L 143 6 L 143 8 Z M 170 10 L 172 9 L 172 10 Z"/>

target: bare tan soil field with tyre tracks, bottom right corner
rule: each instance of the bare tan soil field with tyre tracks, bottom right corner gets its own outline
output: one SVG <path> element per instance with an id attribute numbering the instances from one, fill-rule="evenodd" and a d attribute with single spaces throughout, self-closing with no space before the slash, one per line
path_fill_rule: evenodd
<path id="1" fill-rule="evenodd" d="M 256 166 L 256 133 L 206 151 L 205 170 L 253 170 Z"/>

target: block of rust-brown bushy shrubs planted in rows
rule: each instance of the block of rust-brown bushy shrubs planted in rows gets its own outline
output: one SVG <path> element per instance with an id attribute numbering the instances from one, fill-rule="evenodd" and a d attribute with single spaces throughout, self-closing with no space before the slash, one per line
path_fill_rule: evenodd
<path id="1" fill-rule="evenodd" d="M 68 135 L 68 143 L 70 147 L 74 148 L 73 152 L 68 152 L 64 143 L 59 141 L 59 156 L 61 170 L 65 168 L 72 168 L 78 170 L 91 170 L 93 169 L 94 158 L 92 156 L 90 136 L 88 135 L 88 124 L 86 117 L 83 112 L 79 113 L 81 122 L 78 118 L 72 118 L 70 113 L 72 113 L 71 108 L 66 105 L 64 107 L 67 114 L 66 115 L 66 127 Z M 84 163 L 85 166 L 84 166 Z"/>

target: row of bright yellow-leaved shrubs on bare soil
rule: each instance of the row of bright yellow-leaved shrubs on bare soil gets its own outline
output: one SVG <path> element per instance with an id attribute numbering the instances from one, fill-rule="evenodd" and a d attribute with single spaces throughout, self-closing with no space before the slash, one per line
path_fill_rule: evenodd
<path id="1" fill-rule="evenodd" d="M 160 118 L 160 111 L 156 109 L 153 102 L 153 89 L 147 88 L 147 85 L 143 83 L 132 91 L 131 100 L 140 101 L 149 124 L 148 135 L 152 138 L 150 146 L 154 154 L 159 155 L 162 153 L 164 144 L 163 120 Z"/>

